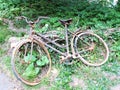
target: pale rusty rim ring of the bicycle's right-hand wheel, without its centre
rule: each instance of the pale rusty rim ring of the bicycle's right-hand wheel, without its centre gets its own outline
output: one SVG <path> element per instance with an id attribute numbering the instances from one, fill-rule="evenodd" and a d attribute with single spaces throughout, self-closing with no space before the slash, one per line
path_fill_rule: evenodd
<path id="1" fill-rule="evenodd" d="M 103 45 L 103 47 L 104 47 L 104 56 L 103 56 L 103 58 L 101 59 L 102 61 L 101 62 L 99 62 L 98 63 L 98 60 L 96 59 L 96 63 L 93 63 L 93 62 L 90 62 L 90 60 L 87 60 L 87 58 L 85 58 L 85 57 L 83 57 L 82 56 L 82 54 L 78 54 L 78 57 L 80 58 L 80 60 L 83 62 L 83 63 L 85 63 L 86 65 L 89 65 L 89 66 L 100 66 L 100 65 L 102 65 L 102 64 L 104 64 L 107 60 L 108 60 L 108 57 L 109 57 L 109 49 L 108 49 L 108 46 L 107 46 L 107 44 L 104 42 L 104 40 L 100 37 L 100 36 L 98 36 L 98 35 L 96 35 L 96 34 L 94 34 L 94 33 L 90 33 L 90 32 L 84 32 L 84 33 L 80 33 L 79 35 L 77 35 L 77 37 L 75 38 L 75 51 L 77 52 L 77 53 L 79 53 L 79 51 L 78 51 L 78 46 L 77 46 L 77 42 L 78 42 L 78 39 L 80 38 L 80 37 L 82 37 L 82 36 L 89 36 L 89 35 L 91 35 L 91 37 L 94 37 L 94 38 L 96 38 L 96 39 L 98 39 L 99 41 L 100 41 L 100 43 Z M 85 39 L 85 38 L 84 38 Z M 92 44 L 92 43 L 91 43 Z M 95 43 L 96 45 L 98 45 L 97 43 Z M 85 47 L 83 47 L 83 48 L 85 48 Z M 97 47 L 98 48 L 98 47 Z M 103 49 L 101 49 L 101 50 L 103 50 Z M 101 50 L 98 50 L 98 52 L 99 51 L 101 51 Z M 97 52 L 97 53 L 98 53 Z M 95 54 L 94 54 L 95 55 Z M 90 56 L 89 56 L 90 57 Z M 91 55 L 91 57 L 92 57 L 92 55 Z M 102 57 L 102 56 L 101 56 Z M 100 57 L 100 58 L 101 58 Z"/>

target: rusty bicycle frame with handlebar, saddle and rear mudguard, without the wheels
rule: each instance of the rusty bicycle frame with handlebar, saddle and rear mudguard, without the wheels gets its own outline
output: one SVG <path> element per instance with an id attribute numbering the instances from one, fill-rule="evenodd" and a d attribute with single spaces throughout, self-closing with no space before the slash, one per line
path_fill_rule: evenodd
<path id="1" fill-rule="evenodd" d="M 64 36 L 65 36 L 64 37 L 64 41 L 65 41 L 65 45 L 61 45 L 61 43 L 57 42 L 59 40 L 59 36 L 58 35 L 53 35 L 52 39 L 51 39 L 49 37 L 49 35 L 43 35 L 41 33 L 38 34 L 38 33 L 36 33 L 34 31 L 35 24 L 38 23 L 41 19 L 48 19 L 48 17 L 40 16 L 35 21 L 28 21 L 28 19 L 25 16 L 18 17 L 18 19 L 25 19 L 25 21 L 29 24 L 29 26 L 30 26 L 29 38 L 30 39 L 36 40 L 38 42 L 42 42 L 46 47 L 49 47 L 53 51 L 59 53 L 61 55 L 61 57 L 62 57 L 61 58 L 62 62 L 64 62 L 65 60 L 67 60 L 69 58 L 79 58 L 78 57 L 79 53 L 77 53 L 74 50 L 74 39 L 79 34 L 85 33 L 85 32 L 89 32 L 91 34 L 93 33 L 93 32 L 91 32 L 91 30 L 81 31 L 80 29 L 78 29 L 77 31 L 75 31 L 73 33 L 73 32 L 68 30 L 68 26 L 72 22 L 72 19 L 60 20 L 61 24 L 65 27 L 64 28 Z M 72 39 L 70 39 L 70 38 L 72 38 Z M 64 49 L 65 52 L 59 50 L 56 47 L 58 47 L 60 49 Z"/>

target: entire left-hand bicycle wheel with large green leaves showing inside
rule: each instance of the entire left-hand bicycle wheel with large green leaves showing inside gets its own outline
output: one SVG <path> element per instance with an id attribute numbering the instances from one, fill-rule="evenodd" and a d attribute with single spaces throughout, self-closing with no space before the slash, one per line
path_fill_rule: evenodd
<path id="1" fill-rule="evenodd" d="M 51 69 L 51 58 L 42 43 L 29 39 L 21 41 L 12 55 L 15 76 L 27 85 L 37 85 Z"/>

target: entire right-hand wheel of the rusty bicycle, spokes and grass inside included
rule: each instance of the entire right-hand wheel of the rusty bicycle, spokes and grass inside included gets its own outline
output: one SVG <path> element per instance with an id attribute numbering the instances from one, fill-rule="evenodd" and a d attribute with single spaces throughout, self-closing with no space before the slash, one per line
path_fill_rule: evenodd
<path id="1" fill-rule="evenodd" d="M 104 40 L 91 32 L 78 34 L 74 39 L 74 51 L 88 66 L 100 66 L 108 60 L 109 50 Z"/>

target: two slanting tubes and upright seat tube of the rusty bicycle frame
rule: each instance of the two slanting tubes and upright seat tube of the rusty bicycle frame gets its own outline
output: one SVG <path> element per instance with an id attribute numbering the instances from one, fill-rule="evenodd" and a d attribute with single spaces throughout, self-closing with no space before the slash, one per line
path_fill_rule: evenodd
<path id="1" fill-rule="evenodd" d="M 31 30 L 33 31 L 33 28 L 31 28 Z M 44 35 L 38 34 L 38 33 L 35 33 L 35 32 L 34 32 L 33 35 L 31 34 L 32 36 L 30 35 L 30 37 L 32 37 L 34 40 L 36 40 L 38 42 L 42 41 L 42 43 L 45 46 L 49 47 L 50 49 L 54 50 L 55 52 L 57 52 L 57 53 L 61 54 L 62 56 L 66 57 L 66 56 L 70 55 L 69 44 L 68 44 L 69 41 L 68 41 L 68 28 L 67 28 L 67 25 L 65 25 L 65 29 L 64 30 L 65 30 L 65 43 L 66 43 L 66 45 L 60 45 L 59 43 L 55 42 L 54 40 L 51 40 L 51 39 L 45 37 Z M 71 33 L 71 32 L 69 32 L 69 33 Z M 41 37 L 43 40 L 40 40 L 39 37 Z M 64 53 L 64 52 L 62 52 L 60 50 L 57 50 L 53 46 L 49 45 L 49 43 L 46 43 L 45 40 L 48 41 L 49 43 L 51 43 L 52 45 L 55 45 L 55 46 L 57 46 L 59 48 L 65 49 L 66 52 Z"/>

